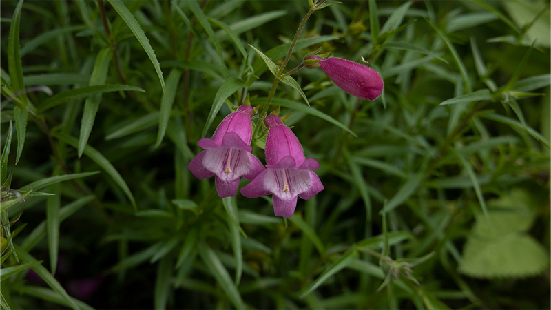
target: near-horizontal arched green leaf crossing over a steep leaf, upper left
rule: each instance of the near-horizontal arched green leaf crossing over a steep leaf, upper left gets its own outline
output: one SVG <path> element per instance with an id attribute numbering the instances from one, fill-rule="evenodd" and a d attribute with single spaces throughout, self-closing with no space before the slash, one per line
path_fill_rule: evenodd
<path id="1" fill-rule="evenodd" d="M 94 85 L 81 88 L 75 88 L 74 90 L 65 90 L 60 94 L 56 94 L 45 100 L 39 107 L 39 113 L 44 112 L 52 107 L 67 103 L 67 101 L 83 99 L 88 96 L 94 96 L 103 94 L 104 92 L 120 92 L 123 90 L 134 90 L 136 92 L 145 92 L 140 87 L 130 85 Z"/>

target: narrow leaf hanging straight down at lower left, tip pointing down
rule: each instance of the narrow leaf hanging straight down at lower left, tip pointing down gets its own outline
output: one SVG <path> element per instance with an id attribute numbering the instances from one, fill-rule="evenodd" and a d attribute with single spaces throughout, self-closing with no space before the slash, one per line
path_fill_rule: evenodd
<path id="1" fill-rule="evenodd" d="M 46 199 L 46 229 L 48 230 L 48 252 L 50 254 L 50 270 L 56 273 L 57 251 L 59 248 L 59 208 L 61 207 L 61 190 L 59 183 L 50 186 L 50 192 L 55 196 Z"/>

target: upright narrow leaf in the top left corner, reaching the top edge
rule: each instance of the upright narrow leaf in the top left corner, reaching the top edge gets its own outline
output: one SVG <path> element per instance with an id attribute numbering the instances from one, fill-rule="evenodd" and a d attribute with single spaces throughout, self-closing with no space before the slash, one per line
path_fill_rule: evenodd
<path id="1" fill-rule="evenodd" d="M 14 92 L 25 90 L 23 83 L 23 68 L 21 66 L 21 55 L 19 54 L 19 24 L 21 23 L 21 8 L 23 0 L 20 0 L 15 7 L 12 24 L 10 25 L 10 37 L 8 38 L 8 70 L 10 70 L 10 79 Z M 21 101 L 27 106 L 27 95 L 19 96 Z"/>

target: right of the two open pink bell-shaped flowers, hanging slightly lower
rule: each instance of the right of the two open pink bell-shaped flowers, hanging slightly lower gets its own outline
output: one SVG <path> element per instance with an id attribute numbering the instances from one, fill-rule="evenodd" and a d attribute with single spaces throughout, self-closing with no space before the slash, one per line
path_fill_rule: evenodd
<path id="1" fill-rule="evenodd" d="M 310 199 L 323 190 L 313 170 L 320 167 L 314 158 L 304 158 L 304 151 L 291 129 L 275 115 L 264 120 L 269 128 L 266 139 L 266 167 L 241 194 L 256 198 L 273 193 L 275 216 L 289 218 L 297 206 L 297 196 Z"/>

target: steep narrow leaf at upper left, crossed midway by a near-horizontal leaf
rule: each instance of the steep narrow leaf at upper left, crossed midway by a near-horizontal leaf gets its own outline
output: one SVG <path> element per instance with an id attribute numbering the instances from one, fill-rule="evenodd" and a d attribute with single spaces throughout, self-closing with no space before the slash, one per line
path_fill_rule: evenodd
<path id="1" fill-rule="evenodd" d="M 96 57 L 96 63 L 94 64 L 94 70 L 92 76 L 90 76 L 89 86 L 103 85 L 105 79 L 107 79 L 107 71 L 109 70 L 109 63 L 113 56 L 112 48 L 103 48 L 98 52 Z M 81 120 L 81 134 L 79 137 L 79 158 L 81 158 L 84 152 L 84 147 L 88 143 L 92 127 L 94 127 L 94 120 L 96 119 L 96 113 L 98 112 L 99 103 L 101 101 L 101 94 L 89 96 L 84 101 L 84 112 Z"/>

